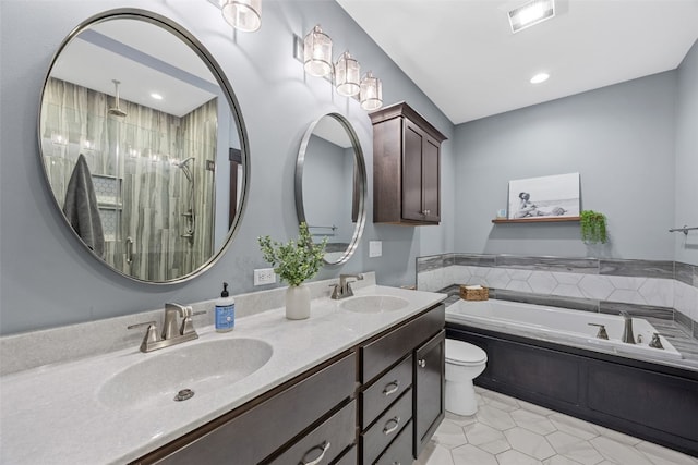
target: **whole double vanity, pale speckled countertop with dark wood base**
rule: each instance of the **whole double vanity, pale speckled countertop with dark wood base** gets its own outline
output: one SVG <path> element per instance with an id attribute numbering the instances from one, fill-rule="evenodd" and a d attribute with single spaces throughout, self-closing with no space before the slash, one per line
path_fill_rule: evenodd
<path id="1" fill-rule="evenodd" d="M 411 463 L 444 415 L 442 298 L 371 277 L 306 320 L 3 376 L 1 462 Z"/>

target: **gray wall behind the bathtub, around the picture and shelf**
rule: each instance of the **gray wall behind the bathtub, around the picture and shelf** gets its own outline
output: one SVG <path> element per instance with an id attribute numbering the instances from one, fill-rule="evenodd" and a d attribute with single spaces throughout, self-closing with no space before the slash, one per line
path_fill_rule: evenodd
<path id="1" fill-rule="evenodd" d="M 676 82 L 670 71 L 456 126 L 455 250 L 673 260 Z M 606 215 L 609 244 L 586 246 L 578 222 L 491 222 L 509 180 L 569 172 L 582 209 Z M 696 172 L 684 174 L 694 219 Z"/>

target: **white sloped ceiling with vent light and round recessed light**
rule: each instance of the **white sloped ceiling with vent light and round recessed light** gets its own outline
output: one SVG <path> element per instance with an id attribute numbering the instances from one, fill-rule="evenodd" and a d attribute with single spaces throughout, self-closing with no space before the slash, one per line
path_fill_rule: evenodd
<path id="1" fill-rule="evenodd" d="M 698 0 L 557 0 L 517 34 L 527 0 L 337 1 L 455 124 L 673 70 L 698 38 Z"/>

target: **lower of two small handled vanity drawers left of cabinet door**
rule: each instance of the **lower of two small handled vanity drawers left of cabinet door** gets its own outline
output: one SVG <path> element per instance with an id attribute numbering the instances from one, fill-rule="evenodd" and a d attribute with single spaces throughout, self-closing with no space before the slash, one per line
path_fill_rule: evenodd
<path id="1" fill-rule="evenodd" d="M 363 463 L 372 464 L 411 418 L 412 389 L 410 388 L 361 436 Z"/>

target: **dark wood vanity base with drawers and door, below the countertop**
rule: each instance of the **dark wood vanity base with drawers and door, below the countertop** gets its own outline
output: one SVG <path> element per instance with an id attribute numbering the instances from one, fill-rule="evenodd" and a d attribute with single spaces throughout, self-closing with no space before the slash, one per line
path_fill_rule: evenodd
<path id="1" fill-rule="evenodd" d="M 438 304 L 137 464 L 411 463 L 444 417 Z"/>

